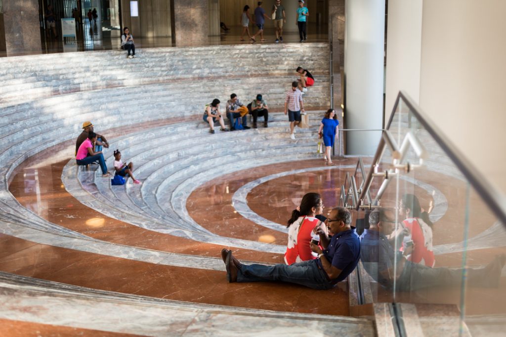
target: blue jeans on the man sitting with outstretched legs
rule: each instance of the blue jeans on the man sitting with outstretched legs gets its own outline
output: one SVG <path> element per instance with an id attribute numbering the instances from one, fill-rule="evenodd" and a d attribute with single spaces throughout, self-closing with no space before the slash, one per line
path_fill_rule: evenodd
<path id="1" fill-rule="evenodd" d="M 277 264 L 241 265 L 237 271 L 237 282 L 282 281 L 305 285 L 313 289 L 330 289 L 335 283 L 325 276 L 325 271 L 318 268 L 316 260 L 294 263 L 292 265 Z"/>

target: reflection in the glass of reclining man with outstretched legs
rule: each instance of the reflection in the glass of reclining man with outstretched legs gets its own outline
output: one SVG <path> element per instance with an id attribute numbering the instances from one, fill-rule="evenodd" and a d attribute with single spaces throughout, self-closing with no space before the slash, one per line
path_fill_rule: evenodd
<path id="1" fill-rule="evenodd" d="M 407 252 L 395 250 L 395 240 L 404 235 L 401 229 L 394 233 L 392 212 L 378 208 L 369 215 L 369 229 L 361 236 L 361 259 L 367 273 L 388 289 L 409 291 L 436 286 L 460 285 L 462 268 L 431 268 L 405 258 Z M 497 256 L 486 267 L 467 269 L 471 286 L 498 286 L 506 256 Z"/>

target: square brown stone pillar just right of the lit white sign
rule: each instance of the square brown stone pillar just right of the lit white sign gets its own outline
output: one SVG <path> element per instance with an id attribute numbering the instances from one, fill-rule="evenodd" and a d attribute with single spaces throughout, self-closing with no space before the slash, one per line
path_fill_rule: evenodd
<path id="1" fill-rule="evenodd" d="M 176 46 L 201 46 L 209 38 L 208 0 L 174 0 Z"/>

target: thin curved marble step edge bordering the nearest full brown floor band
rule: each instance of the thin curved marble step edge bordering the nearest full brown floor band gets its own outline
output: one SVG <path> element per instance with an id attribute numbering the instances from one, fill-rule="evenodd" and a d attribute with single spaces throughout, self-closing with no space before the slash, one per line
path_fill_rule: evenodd
<path id="1" fill-rule="evenodd" d="M 321 314 L 303 314 L 296 312 L 279 312 L 270 310 L 259 310 L 259 309 L 246 309 L 241 307 L 230 307 L 221 305 L 210 305 L 210 304 L 199 304 L 176 300 L 166 300 L 160 298 L 153 298 L 147 296 L 141 296 L 136 294 L 128 294 L 122 292 L 115 292 L 109 290 L 100 290 L 82 286 L 76 286 L 71 284 L 59 283 L 56 281 L 47 281 L 43 279 L 37 279 L 27 276 L 20 276 L 16 274 L 9 274 L 6 272 L 0 272 L 0 284 L 1 287 L 9 287 L 13 289 L 26 289 L 35 296 L 51 296 L 51 297 L 62 297 L 68 299 L 93 299 L 97 301 L 108 301 L 113 303 L 128 303 L 134 304 L 139 307 L 144 306 L 170 306 L 179 308 L 182 310 L 207 310 L 210 312 L 232 312 L 232 313 L 243 313 L 247 315 L 260 316 L 260 317 L 289 317 L 296 319 L 311 319 L 311 320 L 330 320 L 333 322 L 343 323 L 368 323 L 369 319 L 354 318 L 346 316 L 333 316 L 333 315 L 321 315 Z"/>

